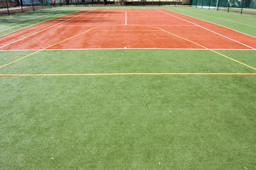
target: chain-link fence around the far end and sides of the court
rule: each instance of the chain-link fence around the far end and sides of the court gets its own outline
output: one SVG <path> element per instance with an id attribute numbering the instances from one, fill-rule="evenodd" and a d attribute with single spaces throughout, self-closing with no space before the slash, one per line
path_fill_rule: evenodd
<path id="1" fill-rule="evenodd" d="M 0 0 L 0 15 L 59 6 L 165 6 L 199 8 L 256 15 L 256 0 Z"/>

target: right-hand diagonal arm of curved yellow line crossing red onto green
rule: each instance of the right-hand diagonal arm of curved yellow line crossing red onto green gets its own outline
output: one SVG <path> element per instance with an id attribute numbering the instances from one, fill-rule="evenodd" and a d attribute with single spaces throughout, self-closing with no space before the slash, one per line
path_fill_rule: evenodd
<path id="1" fill-rule="evenodd" d="M 233 59 L 233 58 L 230 58 L 230 57 L 228 57 L 228 56 L 226 56 L 226 55 L 224 55 L 224 54 L 221 54 L 221 53 L 218 52 L 218 51 L 214 51 L 214 50 L 208 49 L 207 47 L 204 47 L 204 46 L 202 46 L 201 44 L 198 44 L 198 43 L 196 43 L 196 42 L 194 42 L 194 41 L 191 41 L 191 40 L 189 40 L 189 39 L 186 39 L 186 38 L 184 38 L 184 37 L 182 37 L 182 36 L 179 36 L 179 35 L 170 33 L 170 32 L 168 32 L 168 31 L 166 31 L 166 30 L 164 30 L 164 29 L 162 29 L 162 28 L 153 27 L 153 26 L 147 26 L 147 27 L 152 27 L 152 28 L 160 29 L 160 30 L 164 31 L 165 33 L 168 33 L 168 34 L 171 34 L 171 35 L 176 36 L 176 37 L 178 37 L 178 38 L 184 39 L 184 40 L 186 40 L 186 41 L 188 41 L 188 42 L 191 42 L 191 43 L 193 43 L 193 44 L 196 44 L 196 45 L 198 45 L 198 46 L 200 46 L 200 47 L 202 47 L 202 48 L 204 48 L 204 49 L 206 49 L 206 50 L 212 51 L 212 52 L 214 52 L 214 53 L 216 53 L 216 54 L 219 54 L 219 55 L 221 55 L 221 56 L 223 56 L 223 57 L 225 57 L 225 58 L 228 58 L 228 59 L 230 59 L 230 60 L 232 60 L 232 61 L 235 61 L 235 62 L 237 62 L 237 63 L 239 63 L 239 64 L 241 64 L 241 65 L 244 65 L 244 66 L 246 66 L 246 67 L 248 67 L 248 68 L 252 68 L 252 69 L 256 70 L 256 68 L 254 68 L 254 67 L 252 67 L 252 66 L 249 66 L 249 65 L 247 65 L 247 64 L 245 64 L 245 63 L 242 63 L 242 62 L 240 62 L 240 61 L 238 61 L 238 60 L 235 60 L 235 59 Z"/>

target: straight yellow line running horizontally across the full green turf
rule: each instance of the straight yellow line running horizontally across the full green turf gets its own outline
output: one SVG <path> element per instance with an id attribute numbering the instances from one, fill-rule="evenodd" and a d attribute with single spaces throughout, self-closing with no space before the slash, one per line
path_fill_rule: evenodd
<path id="1" fill-rule="evenodd" d="M 111 75 L 252 75 L 256 73 L 81 73 L 81 74 L 0 74 L 0 77 L 14 76 L 111 76 Z"/>

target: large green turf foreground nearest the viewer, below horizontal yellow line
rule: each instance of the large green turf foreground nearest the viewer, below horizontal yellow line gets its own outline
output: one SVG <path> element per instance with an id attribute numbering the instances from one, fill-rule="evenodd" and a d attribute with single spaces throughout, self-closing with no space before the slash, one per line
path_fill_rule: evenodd
<path id="1" fill-rule="evenodd" d="M 255 84 L 234 75 L 1 77 L 1 167 L 253 169 Z"/>

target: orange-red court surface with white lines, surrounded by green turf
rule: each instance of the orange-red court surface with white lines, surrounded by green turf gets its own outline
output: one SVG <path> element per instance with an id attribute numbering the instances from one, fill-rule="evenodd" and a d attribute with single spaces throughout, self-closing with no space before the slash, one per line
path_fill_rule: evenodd
<path id="1" fill-rule="evenodd" d="M 0 36 L 0 50 L 242 49 L 256 37 L 159 9 L 85 9 Z"/>

